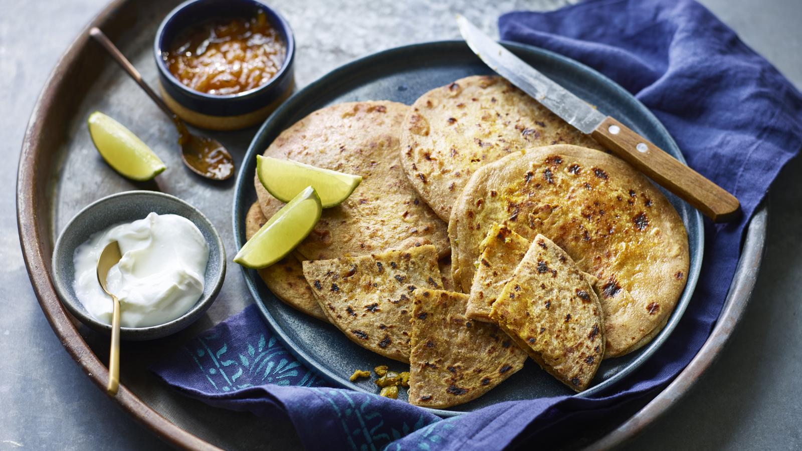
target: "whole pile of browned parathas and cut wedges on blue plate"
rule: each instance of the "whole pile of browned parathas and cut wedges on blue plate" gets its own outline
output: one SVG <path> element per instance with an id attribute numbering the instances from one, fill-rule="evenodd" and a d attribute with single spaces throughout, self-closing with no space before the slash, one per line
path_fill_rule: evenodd
<path id="1" fill-rule="evenodd" d="M 603 358 L 662 329 L 689 260 L 666 198 L 602 150 L 496 76 L 411 107 L 323 108 L 265 156 L 363 182 L 259 274 L 284 302 L 410 363 L 413 404 L 475 399 L 527 355 L 581 391 Z M 249 236 L 282 206 L 255 181 Z"/>

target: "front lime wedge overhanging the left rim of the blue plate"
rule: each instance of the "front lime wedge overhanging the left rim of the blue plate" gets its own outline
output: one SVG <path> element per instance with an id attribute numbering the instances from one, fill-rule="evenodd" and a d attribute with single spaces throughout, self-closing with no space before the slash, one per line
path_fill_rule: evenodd
<path id="1" fill-rule="evenodd" d="M 318 193 L 307 186 L 261 226 L 242 246 L 234 262 L 259 269 L 281 260 L 312 231 L 322 210 Z"/>

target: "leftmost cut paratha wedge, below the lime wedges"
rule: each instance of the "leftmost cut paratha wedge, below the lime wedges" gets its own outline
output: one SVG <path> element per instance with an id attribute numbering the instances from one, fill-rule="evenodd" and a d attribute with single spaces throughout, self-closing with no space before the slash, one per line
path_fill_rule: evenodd
<path id="1" fill-rule="evenodd" d="M 412 292 L 442 288 L 435 246 L 303 262 L 303 274 L 330 322 L 351 341 L 409 363 Z"/>

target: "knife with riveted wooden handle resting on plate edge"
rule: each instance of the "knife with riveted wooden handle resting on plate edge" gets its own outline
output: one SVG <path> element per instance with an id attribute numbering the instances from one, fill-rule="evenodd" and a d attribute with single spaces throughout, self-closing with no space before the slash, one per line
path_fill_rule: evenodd
<path id="1" fill-rule="evenodd" d="M 713 221 L 731 221 L 739 216 L 740 204 L 735 196 L 512 55 L 462 15 L 457 14 L 456 21 L 476 56 L 562 120 L 593 137 Z"/>

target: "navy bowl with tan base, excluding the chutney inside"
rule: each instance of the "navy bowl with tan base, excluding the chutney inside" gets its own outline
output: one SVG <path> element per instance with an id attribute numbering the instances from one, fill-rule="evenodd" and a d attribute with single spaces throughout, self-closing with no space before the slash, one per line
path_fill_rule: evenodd
<path id="1" fill-rule="evenodd" d="M 268 83 L 237 94 L 213 95 L 184 86 L 170 73 L 163 55 L 182 32 L 212 20 L 252 18 L 257 10 L 265 12 L 268 22 L 286 44 L 284 63 Z M 153 55 L 165 102 L 182 119 L 201 128 L 233 130 L 258 124 L 289 97 L 294 87 L 293 31 L 281 14 L 259 0 L 188 0 L 181 3 L 167 14 L 156 31 Z"/>

